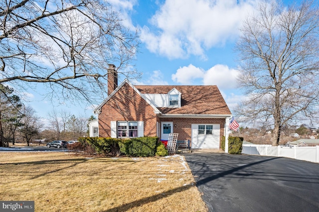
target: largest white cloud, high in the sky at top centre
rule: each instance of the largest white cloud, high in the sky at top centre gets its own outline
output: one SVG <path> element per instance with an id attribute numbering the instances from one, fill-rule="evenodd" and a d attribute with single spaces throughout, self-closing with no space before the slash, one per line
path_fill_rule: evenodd
<path id="1" fill-rule="evenodd" d="M 141 29 L 147 48 L 169 59 L 204 55 L 205 49 L 238 36 L 256 0 L 166 0 Z M 153 29 L 154 28 L 154 29 Z"/>

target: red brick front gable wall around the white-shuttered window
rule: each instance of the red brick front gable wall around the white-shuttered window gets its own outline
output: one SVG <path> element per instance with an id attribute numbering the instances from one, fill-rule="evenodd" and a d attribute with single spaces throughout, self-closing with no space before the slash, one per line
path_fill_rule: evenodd
<path id="1" fill-rule="evenodd" d="M 125 84 L 101 107 L 99 114 L 99 136 L 111 137 L 111 121 L 144 121 L 144 136 L 156 136 L 154 108 L 136 91 Z"/>

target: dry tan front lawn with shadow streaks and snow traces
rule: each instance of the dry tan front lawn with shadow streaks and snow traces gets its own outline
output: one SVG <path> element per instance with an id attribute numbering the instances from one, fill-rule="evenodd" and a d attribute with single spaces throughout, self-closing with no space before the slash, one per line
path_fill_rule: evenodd
<path id="1" fill-rule="evenodd" d="M 207 211 L 182 156 L 2 152 L 0 167 L 0 200 L 34 201 L 36 212 Z"/>

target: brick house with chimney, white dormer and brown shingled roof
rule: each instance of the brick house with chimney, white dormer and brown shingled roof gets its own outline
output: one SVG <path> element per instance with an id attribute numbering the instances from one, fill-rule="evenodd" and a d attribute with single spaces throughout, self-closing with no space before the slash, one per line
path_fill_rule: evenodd
<path id="1" fill-rule="evenodd" d="M 231 112 L 217 86 L 134 86 L 127 79 L 118 86 L 114 66 L 108 72 L 109 96 L 94 110 L 91 137 L 167 140 L 173 132 L 193 149 L 219 149 L 222 136 L 228 138 Z"/>

